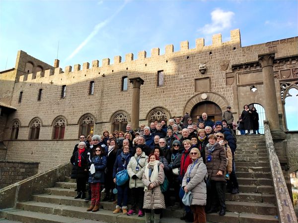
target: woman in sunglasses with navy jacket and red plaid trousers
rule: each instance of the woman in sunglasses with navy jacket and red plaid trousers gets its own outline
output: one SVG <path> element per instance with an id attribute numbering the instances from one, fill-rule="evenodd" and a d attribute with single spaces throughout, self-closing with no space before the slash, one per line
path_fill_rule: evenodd
<path id="1" fill-rule="evenodd" d="M 90 166 L 92 165 L 95 172 L 91 173 L 89 171 L 88 183 L 91 187 L 91 205 L 87 209 L 87 212 L 97 212 L 99 210 L 101 185 L 105 182 L 104 170 L 107 166 L 107 158 L 103 147 L 95 148 L 93 158 L 90 162 Z"/>

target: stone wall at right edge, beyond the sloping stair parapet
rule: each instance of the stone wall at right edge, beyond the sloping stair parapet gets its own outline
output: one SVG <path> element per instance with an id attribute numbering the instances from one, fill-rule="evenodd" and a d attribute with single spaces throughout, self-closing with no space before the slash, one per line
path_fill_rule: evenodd
<path id="1" fill-rule="evenodd" d="M 298 170 L 298 132 L 287 132 L 287 149 L 288 149 L 288 161 L 290 170 L 289 172 L 295 172 Z"/>

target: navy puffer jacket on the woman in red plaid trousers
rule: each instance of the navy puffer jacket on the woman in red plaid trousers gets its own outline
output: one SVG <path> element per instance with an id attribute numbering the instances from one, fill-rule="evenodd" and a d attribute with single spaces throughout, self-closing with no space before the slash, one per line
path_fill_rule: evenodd
<path id="1" fill-rule="evenodd" d="M 94 156 L 92 158 L 91 164 L 94 164 L 95 167 L 95 173 L 100 172 L 101 177 L 100 178 L 95 178 L 94 175 L 95 173 L 91 174 L 89 171 L 89 178 L 88 178 L 88 183 L 104 183 L 104 170 L 107 166 L 107 157 L 106 156 Z"/>

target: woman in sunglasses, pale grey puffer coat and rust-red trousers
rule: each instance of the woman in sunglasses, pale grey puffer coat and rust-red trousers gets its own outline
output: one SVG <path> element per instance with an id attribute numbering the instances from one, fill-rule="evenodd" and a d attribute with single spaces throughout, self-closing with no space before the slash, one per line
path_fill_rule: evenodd
<path id="1" fill-rule="evenodd" d="M 204 179 L 208 177 L 207 167 L 198 148 L 192 148 L 189 155 L 192 164 L 187 167 L 181 186 L 185 193 L 192 193 L 190 208 L 194 215 L 194 223 L 206 223 L 207 189 Z"/>

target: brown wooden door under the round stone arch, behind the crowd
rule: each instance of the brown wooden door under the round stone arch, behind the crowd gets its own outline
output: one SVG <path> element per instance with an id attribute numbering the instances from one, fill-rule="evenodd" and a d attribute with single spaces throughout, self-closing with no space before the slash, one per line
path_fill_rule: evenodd
<path id="1" fill-rule="evenodd" d="M 210 101 L 200 102 L 195 105 L 190 112 L 190 116 L 193 120 L 197 121 L 197 116 L 201 117 L 202 113 L 204 112 L 206 112 L 208 114 L 208 118 L 210 118 L 214 122 L 222 120 L 223 111 L 217 104 Z"/>

